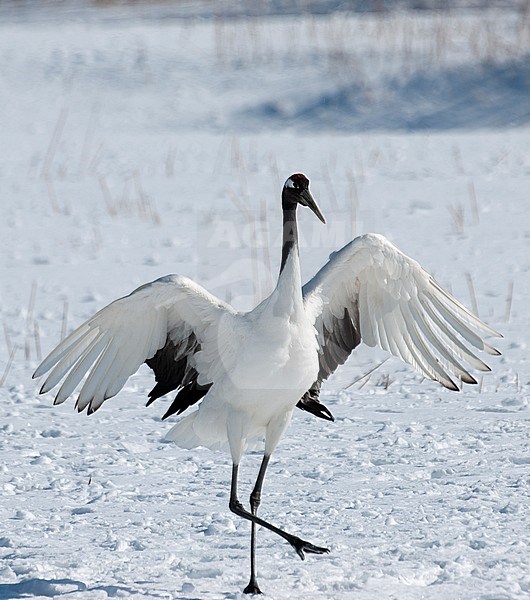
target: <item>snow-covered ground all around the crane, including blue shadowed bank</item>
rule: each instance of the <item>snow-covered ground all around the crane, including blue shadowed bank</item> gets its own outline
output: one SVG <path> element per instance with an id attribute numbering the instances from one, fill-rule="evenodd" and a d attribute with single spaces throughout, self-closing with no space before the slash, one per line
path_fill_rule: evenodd
<path id="1" fill-rule="evenodd" d="M 331 553 L 261 530 L 262 589 L 530 598 L 528 15 L 32 14 L 0 24 L 0 598 L 240 597 L 229 458 L 163 441 L 149 369 L 90 418 L 31 373 L 167 273 L 253 306 L 295 171 L 329 223 L 300 215 L 306 278 L 383 233 L 505 338 L 459 394 L 394 359 L 361 378 L 385 357 L 361 347 L 325 388 L 336 422 L 297 411 L 260 510 Z"/>

